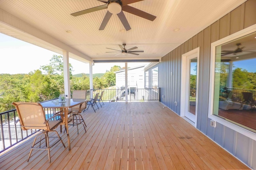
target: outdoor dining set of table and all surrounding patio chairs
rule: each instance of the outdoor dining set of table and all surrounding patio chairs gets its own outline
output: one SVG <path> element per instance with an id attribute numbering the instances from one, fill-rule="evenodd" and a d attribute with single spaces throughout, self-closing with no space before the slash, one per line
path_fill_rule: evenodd
<path id="1" fill-rule="evenodd" d="M 16 107 L 19 117 L 15 123 L 20 122 L 21 129 L 24 131 L 32 130 L 36 132 L 35 139 L 28 156 L 28 161 L 33 149 L 48 150 L 48 158 L 49 162 L 51 162 L 50 148 L 59 142 L 61 142 L 65 148 L 60 135 L 56 131 L 56 128 L 59 125 L 60 128 L 62 128 L 62 125 L 65 127 L 68 139 L 68 150 L 71 150 L 68 126 L 76 126 L 77 134 L 79 134 L 78 125 L 82 125 L 86 132 L 87 125 L 81 113 L 90 107 L 92 107 L 96 113 L 96 109 L 99 109 L 98 104 L 100 104 L 100 107 L 104 105 L 102 101 L 103 94 L 104 91 L 101 92 L 100 96 L 99 93 L 96 93 L 94 98 L 87 100 L 86 90 L 73 90 L 72 98 L 66 98 L 65 95 L 60 95 L 57 99 L 42 103 L 12 102 Z M 56 112 L 53 116 L 47 117 L 45 113 L 46 109 L 55 109 Z M 53 132 L 56 135 L 48 135 L 49 132 Z M 62 132 L 62 129 L 60 129 L 60 132 Z"/>

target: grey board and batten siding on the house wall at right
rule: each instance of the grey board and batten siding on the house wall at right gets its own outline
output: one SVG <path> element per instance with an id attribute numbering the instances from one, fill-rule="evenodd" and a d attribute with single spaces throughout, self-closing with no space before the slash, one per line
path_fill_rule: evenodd
<path id="1" fill-rule="evenodd" d="M 158 64 L 161 102 L 180 115 L 181 57 L 200 47 L 197 129 L 256 169 L 256 141 L 208 118 L 211 43 L 256 24 L 256 0 L 248 0 L 162 57 Z M 163 97 L 162 97 L 163 96 Z M 178 102 L 175 106 L 174 102 Z"/>

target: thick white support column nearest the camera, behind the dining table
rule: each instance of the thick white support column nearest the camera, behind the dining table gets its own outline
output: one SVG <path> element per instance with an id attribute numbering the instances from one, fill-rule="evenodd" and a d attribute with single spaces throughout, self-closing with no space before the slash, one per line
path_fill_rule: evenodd
<path id="1" fill-rule="evenodd" d="M 64 93 L 70 98 L 70 76 L 68 51 L 63 51 Z"/>

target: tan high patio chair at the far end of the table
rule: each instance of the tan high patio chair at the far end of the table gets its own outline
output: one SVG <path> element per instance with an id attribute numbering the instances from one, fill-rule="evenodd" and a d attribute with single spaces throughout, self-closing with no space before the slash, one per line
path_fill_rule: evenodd
<path id="1" fill-rule="evenodd" d="M 86 91 L 87 90 L 73 90 L 72 99 L 86 99 Z M 87 102 L 84 102 L 82 105 L 74 106 L 71 108 L 72 110 L 72 123 L 73 125 L 77 125 L 77 134 L 78 134 L 78 125 L 82 124 L 84 126 L 84 130 L 86 132 L 86 123 L 81 115 L 82 111 L 86 109 Z"/>

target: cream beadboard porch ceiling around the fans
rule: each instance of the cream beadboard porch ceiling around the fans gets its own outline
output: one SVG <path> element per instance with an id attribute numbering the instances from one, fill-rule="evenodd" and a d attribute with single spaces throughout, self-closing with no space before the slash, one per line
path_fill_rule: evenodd
<path id="1" fill-rule="evenodd" d="M 124 12 L 126 31 L 116 14 L 99 30 L 108 9 L 70 14 L 107 0 L 0 0 L 0 32 L 84 63 L 161 59 L 164 55 L 246 0 L 141 0 L 129 4 L 156 16 L 154 21 Z M 122 2 L 128 2 L 122 0 Z M 130 1 L 131 2 L 131 1 Z M 139 55 L 117 55 L 118 45 L 138 47 Z M 107 49 L 109 48 L 109 49 Z M 106 53 L 113 52 L 113 53 Z"/>

